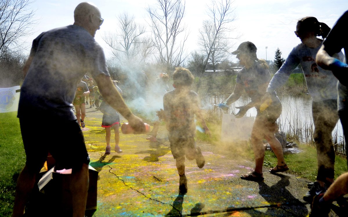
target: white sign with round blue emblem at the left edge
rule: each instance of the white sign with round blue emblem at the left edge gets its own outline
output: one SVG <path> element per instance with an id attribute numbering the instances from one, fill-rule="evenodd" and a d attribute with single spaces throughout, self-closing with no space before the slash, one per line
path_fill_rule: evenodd
<path id="1" fill-rule="evenodd" d="M 20 86 L 0 88 L 0 113 L 18 110 L 20 89 Z"/>

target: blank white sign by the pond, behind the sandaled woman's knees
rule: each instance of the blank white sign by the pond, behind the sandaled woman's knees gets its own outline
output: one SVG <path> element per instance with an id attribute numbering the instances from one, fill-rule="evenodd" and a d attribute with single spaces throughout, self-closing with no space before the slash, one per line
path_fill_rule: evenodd
<path id="1" fill-rule="evenodd" d="M 234 115 L 222 114 L 221 141 L 234 142 L 249 140 L 255 117 L 236 118 Z"/>

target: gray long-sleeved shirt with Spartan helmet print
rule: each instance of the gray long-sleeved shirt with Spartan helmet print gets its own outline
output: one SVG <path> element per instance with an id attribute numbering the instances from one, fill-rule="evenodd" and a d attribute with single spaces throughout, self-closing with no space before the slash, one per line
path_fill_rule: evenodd
<path id="1" fill-rule="evenodd" d="M 310 48 L 303 43 L 294 47 L 282 67 L 272 77 L 267 91 L 271 92 L 284 85 L 293 70 L 301 64 L 307 89 L 313 101 L 337 99 L 337 78 L 330 70 L 321 68 L 315 62 L 315 56 L 320 47 L 321 45 L 317 48 Z M 339 60 L 344 58 L 342 52 L 336 53 L 335 57 Z"/>

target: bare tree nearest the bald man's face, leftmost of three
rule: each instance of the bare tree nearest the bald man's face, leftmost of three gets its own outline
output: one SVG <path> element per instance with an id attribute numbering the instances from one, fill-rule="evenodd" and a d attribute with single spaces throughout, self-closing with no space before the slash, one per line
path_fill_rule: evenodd
<path id="1" fill-rule="evenodd" d="M 106 33 L 103 40 L 119 64 L 134 69 L 153 54 L 151 39 L 143 36 L 145 32 L 145 27 L 134 21 L 134 16 L 124 12 L 118 16 L 117 33 Z"/>

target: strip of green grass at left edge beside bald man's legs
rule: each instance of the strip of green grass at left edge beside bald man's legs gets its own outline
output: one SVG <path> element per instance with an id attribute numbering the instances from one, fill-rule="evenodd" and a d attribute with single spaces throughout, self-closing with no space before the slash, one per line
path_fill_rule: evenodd
<path id="1" fill-rule="evenodd" d="M 10 216 L 16 181 L 25 164 L 17 112 L 0 113 L 0 216 Z"/>

